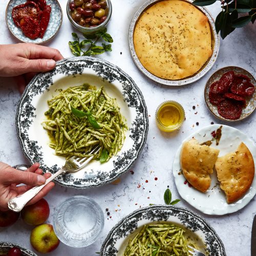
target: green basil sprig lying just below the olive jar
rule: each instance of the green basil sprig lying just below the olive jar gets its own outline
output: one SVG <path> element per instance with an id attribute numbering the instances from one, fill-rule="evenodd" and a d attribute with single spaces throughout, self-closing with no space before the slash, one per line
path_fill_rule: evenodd
<path id="1" fill-rule="evenodd" d="M 86 39 L 82 40 L 81 42 L 78 35 L 76 33 L 72 33 L 72 36 L 75 39 L 75 41 L 69 41 L 69 47 L 72 54 L 75 56 L 91 56 L 102 54 L 104 52 L 111 52 L 111 44 L 105 44 L 102 42 L 101 46 L 96 45 L 96 42 L 99 39 L 106 42 L 113 42 L 112 36 L 106 33 L 106 31 L 106 28 L 104 28 L 90 35 L 83 34 L 83 37 Z M 86 46 L 88 47 L 86 48 Z"/>

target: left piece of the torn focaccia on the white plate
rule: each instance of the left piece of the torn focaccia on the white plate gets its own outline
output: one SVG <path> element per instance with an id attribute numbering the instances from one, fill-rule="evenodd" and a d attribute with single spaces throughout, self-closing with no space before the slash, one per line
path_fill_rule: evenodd
<path id="1" fill-rule="evenodd" d="M 213 172 L 219 150 L 200 145 L 196 139 L 183 144 L 180 164 L 183 175 L 196 189 L 205 192 L 210 186 L 210 174 Z"/>

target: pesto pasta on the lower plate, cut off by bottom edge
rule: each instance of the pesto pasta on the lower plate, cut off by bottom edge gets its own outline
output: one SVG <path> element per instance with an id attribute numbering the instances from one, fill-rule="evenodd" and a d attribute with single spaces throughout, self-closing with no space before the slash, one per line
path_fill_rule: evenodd
<path id="1" fill-rule="evenodd" d="M 185 230 L 174 224 L 144 225 L 141 231 L 129 241 L 123 256 L 184 256 L 188 254 Z M 196 246 L 194 243 L 189 245 Z"/>

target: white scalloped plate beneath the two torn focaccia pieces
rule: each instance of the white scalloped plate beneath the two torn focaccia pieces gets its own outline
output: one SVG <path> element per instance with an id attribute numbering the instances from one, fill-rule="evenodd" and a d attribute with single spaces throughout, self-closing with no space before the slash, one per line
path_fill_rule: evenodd
<path id="1" fill-rule="evenodd" d="M 214 124 L 204 127 L 203 129 L 191 134 L 183 142 L 192 139 L 193 137 L 198 140 L 199 143 L 211 140 L 211 132 L 216 131 L 221 124 Z M 217 146 L 214 141 L 211 147 L 218 148 L 220 150 L 219 157 L 226 155 L 227 153 L 236 151 L 237 147 L 241 142 L 244 142 L 249 148 L 254 163 L 256 163 L 256 147 L 249 137 L 239 131 L 236 128 L 230 127 L 228 125 L 222 125 L 222 136 L 220 143 Z M 179 147 L 173 164 L 173 174 L 175 178 L 175 184 L 179 191 L 180 196 L 187 201 L 190 205 L 194 206 L 196 209 L 204 212 L 208 215 L 224 215 L 230 214 L 231 212 L 238 211 L 247 205 L 250 200 L 256 194 L 256 179 L 253 179 L 251 187 L 247 190 L 246 194 L 237 202 L 228 204 L 226 202 L 226 197 L 222 189 L 218 184 L 217 174 L 214 172 L 211 175 L 211 185 L 206 193 L 202 193 L 194 187 L 184 184 L 186 181 L 183 175 L 179 175 L 181 170 L 180 166 L 180 152 L 181 146 Z"/>

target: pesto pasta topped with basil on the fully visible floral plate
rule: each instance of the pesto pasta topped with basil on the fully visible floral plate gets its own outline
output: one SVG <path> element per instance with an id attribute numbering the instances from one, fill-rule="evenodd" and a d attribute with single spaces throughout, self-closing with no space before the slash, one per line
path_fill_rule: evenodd
<path id="1" fill-rule="evenodd" d="M 108 161 L 120 151 L 127 126 L 116 99 L 103 87 L 89 90 L 90 85 L 70 87 L 48 100 L 47 120 L 42 122 L 56 155 L 89 157 L 100 145 L 95 159 Z"/>

